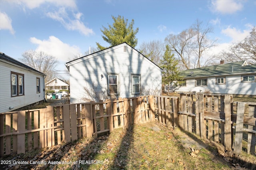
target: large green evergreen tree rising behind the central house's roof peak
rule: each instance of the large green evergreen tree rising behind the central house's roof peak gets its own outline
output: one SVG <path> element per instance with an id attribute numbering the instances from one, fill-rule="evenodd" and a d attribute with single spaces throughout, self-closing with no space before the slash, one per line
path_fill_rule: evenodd
<path id="1" fill-rule="evenodd" d="M 128 20 L 124 20 L 124 17 L 112 16 L 114 23 L 113 25 L 108 24 L 108 28 L 103 26 L 103 29 L 100 31 L 104 34 L 102 38 L 104 41 L 110 44 L 110 47 L 118 45 L 120 43 L 128 43 L 130 46 L 135 47 L 138 43 L 136 34 L 139 31 L 139 28 L 133 29 L 134 20 L 128 24 Z M 98 50 L 103 50 L 108 47 L 103 47 L 100 43 L 97 43 Z"/>

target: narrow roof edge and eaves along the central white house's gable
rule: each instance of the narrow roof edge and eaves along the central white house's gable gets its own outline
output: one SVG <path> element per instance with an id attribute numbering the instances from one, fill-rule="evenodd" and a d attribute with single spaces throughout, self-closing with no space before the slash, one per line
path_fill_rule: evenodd
<path id="1" fill-rule="evenodd" d="M 86 59 L 90 59 L 90 58 L 92 58 L 92 57 L 96 57 L 96 56 L 98 56 L 98 55 L 107 53 L 108 51 L 112 51 L 112 50 L 117 49 L 117 48 L 119 48 L 119 47 L 122 47 L 122 46 L 124 46 L 124 45 L 126 45 L 126 47 L 130 47 L 132 50 L 134 50 L 136 53 L 138 53 L 138 55 L 142 56 L 143 59 L 148 60 L 151 64 L 153 64 L 153 65 L 156 66 L 159 70 L 162 71 L 162 68 L 160 68 L 158 65 L 156 65 L 155 63 L 153 63 L 150 59 L 148 59 L 147 57 L 145 57 L 142 53 L 140 53 L 139 51 L 137 51 L 136 49 L 134 49 L 132 46 L 130 46 L 130 45 L 129 45 L 128 43 L 126 43 L 126 42 L 121 43 L 121 44 L 118 44 L 118 45 L 114 45 L 114 46 L 112 46 L 112 47 L 108 47 L 108 48 L 106 48 L 106 49 L 104 49 L 104 50 L 101 50 L 101 51 L 98 51 L 98 52 L 95 52 L 95 53 L 86 55 L 86 56 L 84 56 L 84 57 L 80 57 L 80 58 L 75 59 L 75 60 L 73 60 L 73 61 L 69 61 L 69 62 L 67 62 L 65 65 L 66 65 L 66 67 L 68 68 L 68 71 L 69 71 L 69 66 L 71 66 L 71 65 L 73 65 L 73 64 L 76 64 L 76 63 L 79 63 L 79 62 L 84 61 L 84 60 L 86 60 Z"/>

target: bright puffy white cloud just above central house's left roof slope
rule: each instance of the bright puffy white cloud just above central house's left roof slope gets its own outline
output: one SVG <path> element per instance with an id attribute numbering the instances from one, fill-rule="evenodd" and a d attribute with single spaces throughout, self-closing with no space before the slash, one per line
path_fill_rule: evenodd
<path id="1" fill-rule="evenodd" d="M 54 36 L 50 36 L 47 40 L 40 40 L 36 37 L 31 37 L 30 42 L 38 45 L 36 51 L 44 51 L 58 59 L 58 61 L 67 62 L 69 58 L 80 53 L 80 48 L 66 44 Z"/>

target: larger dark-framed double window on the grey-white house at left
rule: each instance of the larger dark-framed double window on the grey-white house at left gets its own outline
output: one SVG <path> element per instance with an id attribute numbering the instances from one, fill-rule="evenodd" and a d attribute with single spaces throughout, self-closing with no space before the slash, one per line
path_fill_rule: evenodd
<path id="1" fill-rule="evenodd" d="M 24 95 L 24 74 L 11 72 L 11 84 L 12 96 Z"/>

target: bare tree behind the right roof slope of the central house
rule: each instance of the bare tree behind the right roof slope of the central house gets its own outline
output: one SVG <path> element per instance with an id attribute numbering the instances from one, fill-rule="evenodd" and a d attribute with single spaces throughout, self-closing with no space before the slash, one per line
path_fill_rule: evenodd
<path id="1" fill-rule="evenodd" d="M 160 40 L 143 42 L 140 45 L 139 51 L 155 64 L 160 64 L 160 60 L 165 51 L 165 45 Z"/>

